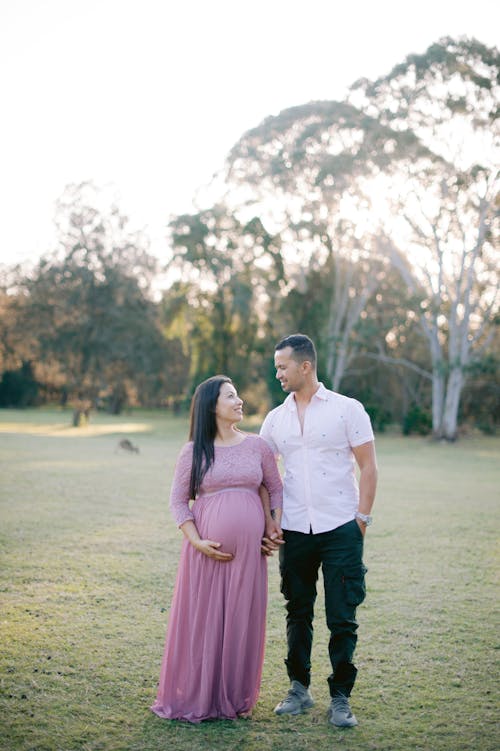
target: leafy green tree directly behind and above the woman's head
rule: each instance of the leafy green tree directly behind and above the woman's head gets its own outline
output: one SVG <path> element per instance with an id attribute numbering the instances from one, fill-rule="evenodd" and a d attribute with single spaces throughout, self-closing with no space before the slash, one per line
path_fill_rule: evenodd
<path id="1" fill-rule="evenodd" d="M 178 216 L 170 230 L 181 280 L 168 290 L 164 320 L 188 348 L 191 385 L 223 372 L 243 390 L 255 380 L 259 302 L 280 274 L 279 246 L 259 220 L 243 224 L 224 204 Z"/>

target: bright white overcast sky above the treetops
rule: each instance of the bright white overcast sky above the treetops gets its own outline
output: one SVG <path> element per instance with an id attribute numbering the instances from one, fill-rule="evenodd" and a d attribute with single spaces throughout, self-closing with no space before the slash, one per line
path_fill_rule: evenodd
<path id="1" fill-rule="evenodd" d="M 264 117 L 342 98 L 442 36 L 498 45 L 496 0 L 1 0 L 0 262 L 54 244 L 65 185 L 169 215 Z"/>

